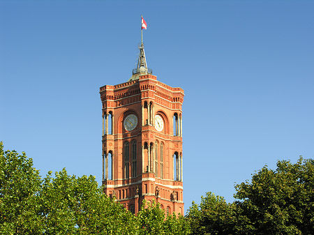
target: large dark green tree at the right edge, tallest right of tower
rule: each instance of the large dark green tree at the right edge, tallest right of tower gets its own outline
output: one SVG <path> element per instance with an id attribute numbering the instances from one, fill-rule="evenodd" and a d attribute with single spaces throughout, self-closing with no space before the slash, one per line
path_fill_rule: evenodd
<path id="1" fill-rule="evenodd" d="M 254 234 L 312 234 L 314 231 L 314 164 L 283 160 L 236 185 L 234 195 Z"/>

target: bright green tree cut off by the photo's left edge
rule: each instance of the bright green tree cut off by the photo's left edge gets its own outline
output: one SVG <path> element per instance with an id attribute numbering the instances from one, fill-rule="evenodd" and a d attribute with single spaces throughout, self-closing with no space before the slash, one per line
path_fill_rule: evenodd
<path id="1" fill-rule="evenodd" d="M 40 183 L 31 158 L 3 151 L 0 142 L 0 234 L 41 234 Z"/>

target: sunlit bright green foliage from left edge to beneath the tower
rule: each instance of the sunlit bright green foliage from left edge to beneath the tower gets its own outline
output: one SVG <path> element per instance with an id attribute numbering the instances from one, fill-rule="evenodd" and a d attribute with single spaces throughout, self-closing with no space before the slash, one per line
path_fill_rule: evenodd
<path id="1" fill-rule="evenodd" d="M 102 191 L 94 176 L 66 169 L 41 179 L 25 153 L 0 143 L 0 234 L 190 234 L 182 216 L 154 203 L 136 217 Z"/>

